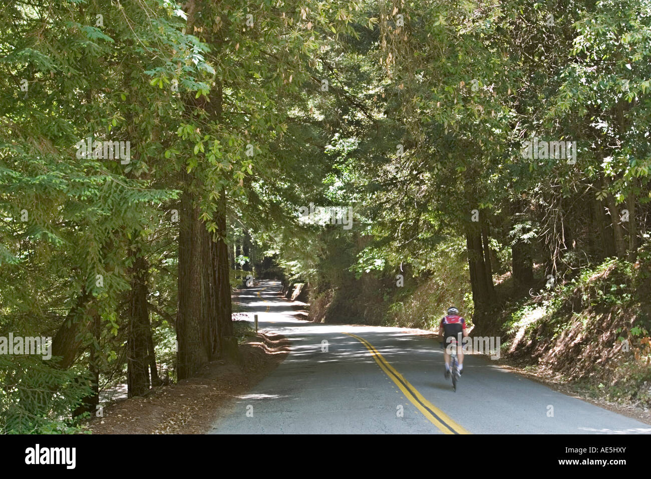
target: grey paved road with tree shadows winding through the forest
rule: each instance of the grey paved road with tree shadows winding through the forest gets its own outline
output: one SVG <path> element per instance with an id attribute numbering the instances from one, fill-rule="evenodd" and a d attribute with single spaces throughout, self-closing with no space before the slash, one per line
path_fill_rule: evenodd
<path id="1" fill-rule="evenodd" d="M 465 356 L 454 392 L 437 341 L 404 328 L 294 319 L 279 289 L 278 282 L 256 283 L 242 300 L 258 313 L 260 330 L 291 340 L 290 355 L 234 399 L 211 433 L 651 433 L 647 424 L 555 392 L 485 356 Z"/>

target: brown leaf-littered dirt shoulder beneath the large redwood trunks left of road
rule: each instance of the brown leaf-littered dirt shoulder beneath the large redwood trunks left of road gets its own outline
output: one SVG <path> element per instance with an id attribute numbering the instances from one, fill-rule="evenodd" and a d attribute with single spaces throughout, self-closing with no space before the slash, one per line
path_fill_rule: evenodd
<path id="1" fill-rule="evenodd" d="M 197 377 L 152 388 L 144 398 L 105 408 L 104 417 L 89 422 L 89 430 L 94 434 L 206 433 L 220 407 L 268 375 L 288 352 L 289 341 L 283 336 L 250 333 L 240 345 L 241 367 L 223 360 L 210 362 Z"/>

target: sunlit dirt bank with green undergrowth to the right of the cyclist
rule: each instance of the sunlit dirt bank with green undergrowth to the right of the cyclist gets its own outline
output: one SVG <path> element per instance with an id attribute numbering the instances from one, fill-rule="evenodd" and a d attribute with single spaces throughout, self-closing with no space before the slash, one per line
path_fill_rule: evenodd
<path id="1" fill-rule="evenodd" d="M 632 267 L 604 263 L 566 288 L 555 305 L 533 304 L 511 323 L 505 362 L 568 394 L 608 409 L 624 407 L 630 411 L 618 412 L 650 422 L 650 290 L 648 258 Z"/>

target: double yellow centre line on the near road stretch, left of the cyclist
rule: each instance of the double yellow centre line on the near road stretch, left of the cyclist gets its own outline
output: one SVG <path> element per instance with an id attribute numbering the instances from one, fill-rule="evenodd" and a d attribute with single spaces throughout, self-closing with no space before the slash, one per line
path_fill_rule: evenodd
<path id="1" fill-rule="evenodd" d="M 466 431 L 462 426 L 456 424 L 456 422 L 450 419 L 447 414 L 443 413 L 443 411 L 437 408 L 434 404 L 423 398 L 422 394 L 418 392 L 414 386 L 409 384 L 409 381 L 404 379 L 402 374 L 398 373 L 398 371 L 396 371 L 393 366 L 383 358 L 371 343 L 355 334 L 349 332 L 344 332 L 344 334 L 352 336 L 366 346 L 375 359 L 375 362 L 380 366 L 380 369 L 385 372 L 398 388 L 400 388 L 402 394 L 404 394 L 405 397 L 409 399 L 409 401 L 411 401 L 411 403 L 415 405 L 415 407 L 417 407 L 419 411 L 421 411 L 421 413 L 432 422 L 432 424 L 434 424 L 434 426 L 439 428 L 441 432 L 445 434 L 470 434 L 469 431 Z"/>

